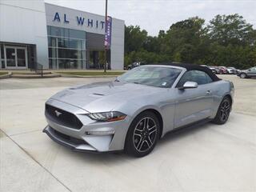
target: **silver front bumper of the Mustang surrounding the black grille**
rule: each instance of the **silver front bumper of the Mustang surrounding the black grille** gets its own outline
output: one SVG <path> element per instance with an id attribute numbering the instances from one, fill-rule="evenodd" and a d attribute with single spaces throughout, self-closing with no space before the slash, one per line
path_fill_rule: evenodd
<path id="1" fill-rule="evenodd" d="M 86 110 L 76 106 L 54 99 L 50 99 L 46 103 L 74 114 L 82 122 L 80 129 L 73 129 L 54 121 L 54 118 L 46 114 L 48 126 L 43 132 L 54 142 L 76 151 L 109 152 L 123 150 L 126 132 L 130 125 L 128 116 L 118 122 L 95 122 L 84 115 L 88 113 Z"/>

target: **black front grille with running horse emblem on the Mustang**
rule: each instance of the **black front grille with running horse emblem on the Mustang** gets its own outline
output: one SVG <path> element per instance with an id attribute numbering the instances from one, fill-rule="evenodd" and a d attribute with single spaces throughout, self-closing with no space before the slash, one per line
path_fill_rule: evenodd
<path id="1" fill-rule="evenodd" d="M 46 116 L 62 126 L 67 126 L 76 130 L 81 129 L 82 127 L 82 122 L 80 122 L 74 114 L 48 104 L 46 104 Z"/>

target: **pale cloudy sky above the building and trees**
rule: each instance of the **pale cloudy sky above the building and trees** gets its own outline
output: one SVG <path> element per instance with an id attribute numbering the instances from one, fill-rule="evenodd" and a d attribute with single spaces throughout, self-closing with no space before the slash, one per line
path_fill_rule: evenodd
<path id="1" fill-rule="evenodd" d="M 105 15 L 105 0 L 45 2 Z M 138 25 L 152 36 L 194 16 L 208 24 L 217 14 L 240 14 L 256 29 L 256 0 L 108 0 L 108 15 L 125 20 L 126 26 Z"/>

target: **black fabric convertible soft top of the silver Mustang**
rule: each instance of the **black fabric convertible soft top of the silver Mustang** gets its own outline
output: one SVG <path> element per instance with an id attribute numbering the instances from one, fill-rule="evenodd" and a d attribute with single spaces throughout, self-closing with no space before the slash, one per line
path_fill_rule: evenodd
<path id="1" fill-rule="evenodd" d="M 201 71 L 205 72 L 206 74 L 208 74 L 214 82 L 217 82 L 217 81 L 221 80 L 208 67 L 200 66 L 200 65 L 197 65 L 197 64 L 169 62 L 169 63 L 157 63 L 157 64 L 150 64 L 150 65 L 180 66 L 180 67 L 185 68 L 186 70 L 201 70 Z"/>

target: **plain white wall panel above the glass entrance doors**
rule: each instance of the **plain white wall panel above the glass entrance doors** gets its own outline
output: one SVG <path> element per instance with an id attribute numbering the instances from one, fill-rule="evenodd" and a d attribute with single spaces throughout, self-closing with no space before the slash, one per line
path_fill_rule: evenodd
<path id="1" fill-rule="evenodd" d="M 38 62 L 48 68 L 44 1 L 1 0 L 0 41 L 36 45 Z"/>

